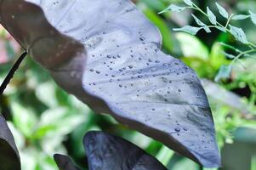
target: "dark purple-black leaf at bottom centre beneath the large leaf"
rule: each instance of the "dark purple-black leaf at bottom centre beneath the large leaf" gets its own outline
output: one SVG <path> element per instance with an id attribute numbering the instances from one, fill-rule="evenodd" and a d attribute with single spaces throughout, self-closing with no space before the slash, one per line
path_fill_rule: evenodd
<path id="1" fill-rule="evenodd" d="M 111 134 L 87 133 L 83 144 L 89 170 L 167 170 L 138 146 Z"/>

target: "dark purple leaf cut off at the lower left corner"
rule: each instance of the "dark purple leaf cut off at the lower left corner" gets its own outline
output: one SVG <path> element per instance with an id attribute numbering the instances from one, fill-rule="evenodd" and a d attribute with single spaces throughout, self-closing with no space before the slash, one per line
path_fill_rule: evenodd
<path id="1" fill-rule="evenodd" d="M 19 152 L 2 115 L 0 115 L 0 169 L 20 170 Z"/>

